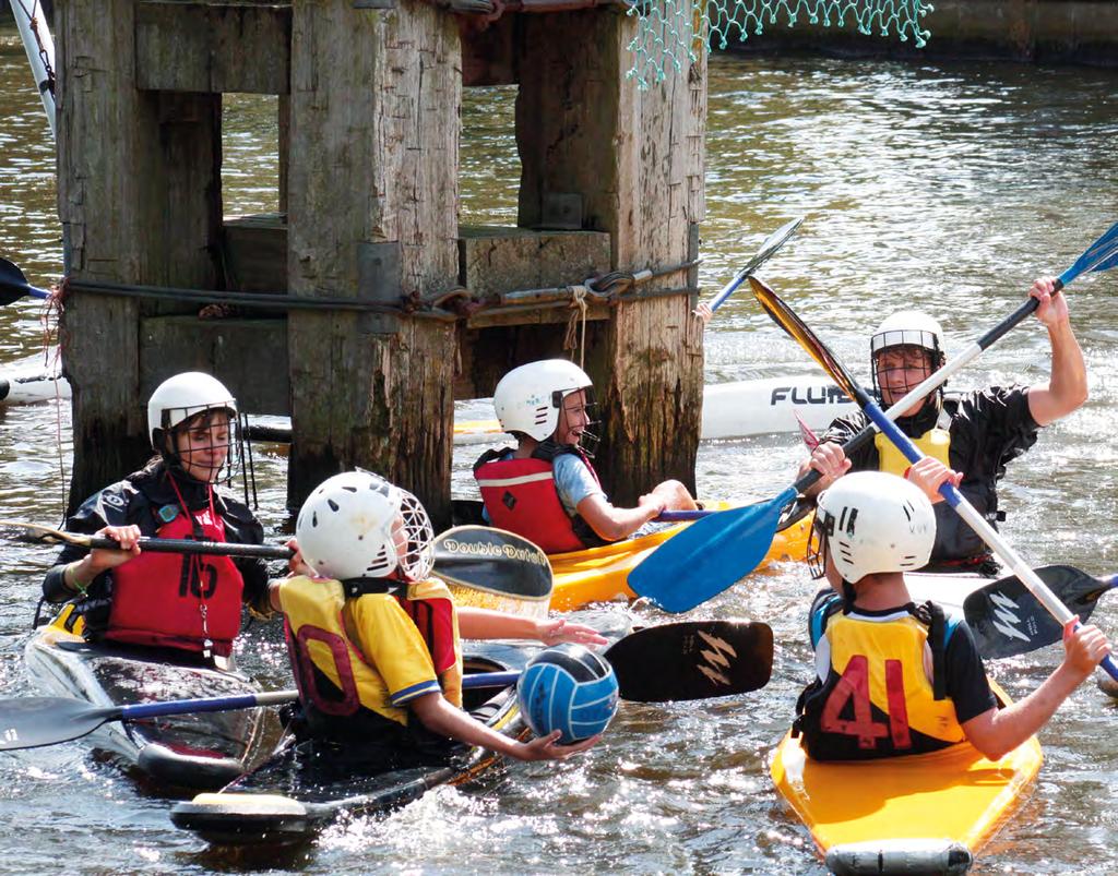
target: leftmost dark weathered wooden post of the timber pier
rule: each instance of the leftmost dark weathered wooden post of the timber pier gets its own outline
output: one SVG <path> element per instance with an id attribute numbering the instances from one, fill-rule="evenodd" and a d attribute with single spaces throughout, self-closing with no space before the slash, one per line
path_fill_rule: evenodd
<path id="1" fill-rule="evenodd" d="M 135 10 L 135 0 L 58 3 L 58 204 L 66 265 L 76 280 L 214 288 L 221 97 L 138 86 Z M 168 308 L 84 292 L 66 301 L 61 339 L 75 427 L 70 507 L 148 454 L 138 324 L 157 306 Z"/>

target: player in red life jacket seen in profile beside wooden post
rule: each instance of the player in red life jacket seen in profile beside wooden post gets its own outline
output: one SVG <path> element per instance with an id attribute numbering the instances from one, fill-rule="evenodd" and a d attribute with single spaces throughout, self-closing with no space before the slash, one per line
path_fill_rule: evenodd
<path id="1" fill-rule="evenodd" d="M 616 542 L 664 511 L 699 507 L 679 480 L 657 484 L 634 508 L 609 502 L 590 463 L 593 392 L 582 369 L 548 359 L 513 369 L 493 393 L 501 428 L 517 446 L 487 450 L 474 464 L 485 513 L 546 553 Z"/>

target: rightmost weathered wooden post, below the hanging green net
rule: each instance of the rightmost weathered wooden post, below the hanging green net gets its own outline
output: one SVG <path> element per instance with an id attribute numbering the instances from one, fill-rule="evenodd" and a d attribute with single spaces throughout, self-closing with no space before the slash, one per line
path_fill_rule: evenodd
<path id="1" fill-rule="evenodd" d="M 647 91 L 625 78 L 635 23 L 622 11 L 525 16 L 519 45 L 519 223 L 548 199 L 577 193 L 582 227 L 608 231 L 615 269 L 695 258 L 703 217 L 705 58 Z M 700 53 L 701 54 L 701 53 Z M 694 487 L 702 404 L 702 328 L 694 268 L 642 286 L 588 332 L 587 370 L 605 426 L 599 470 L 615 499 L 634 502 L 664 477 Z"/>

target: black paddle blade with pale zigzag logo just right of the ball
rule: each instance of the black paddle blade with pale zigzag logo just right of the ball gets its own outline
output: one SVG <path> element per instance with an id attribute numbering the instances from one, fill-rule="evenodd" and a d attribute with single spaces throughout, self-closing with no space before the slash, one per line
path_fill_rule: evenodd
<path id="1" fill-rule="evenodd" d="M 773 674 L 773 630 L 748 620 L 663 623 L 606 651 L 622 698 L 707 699 L 757 691 Z"/>

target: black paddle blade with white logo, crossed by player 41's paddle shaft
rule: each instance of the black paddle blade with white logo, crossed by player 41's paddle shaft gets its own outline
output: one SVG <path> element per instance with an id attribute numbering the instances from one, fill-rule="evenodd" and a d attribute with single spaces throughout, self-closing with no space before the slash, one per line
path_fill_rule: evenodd
<path id="1" fill-rule="evenodd" d="M 1034 571 L 1081 621 L 1095 611 L 1099 597 L 1118 583 L 1071 565 L 1045 565 Z M 1016 575 L 976 590 L 963 602 L 963 613 L 983 657 L 1015 657 L 1063 638 L 1063 627 Z"/>

